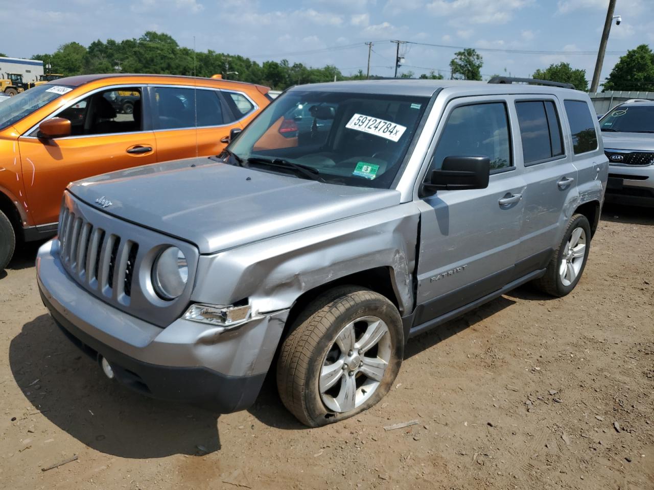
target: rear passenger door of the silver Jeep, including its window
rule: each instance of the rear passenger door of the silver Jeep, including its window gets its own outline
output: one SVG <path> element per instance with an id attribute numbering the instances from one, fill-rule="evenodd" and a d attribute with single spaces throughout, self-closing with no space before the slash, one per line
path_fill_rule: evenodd
<path id="1" fill-rule="evenodd" d="M 525 274 L 543 269 L 557 247 L 566 204 L 577 193 L 577 169 L 562 131 L 562 107 L 549 95 L 513 98 L 525 166 L 525 223 L 520 254 Z"/>

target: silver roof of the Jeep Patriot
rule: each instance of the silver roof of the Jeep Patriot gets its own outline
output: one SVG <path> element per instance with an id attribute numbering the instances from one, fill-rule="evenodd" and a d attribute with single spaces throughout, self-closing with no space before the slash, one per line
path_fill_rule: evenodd
<path id="1" fill-rule="evenodd" d="M 484 93 L 570 93 L 570 89 L 541 85 L 489 84 L 488 82 L 477 82 L 475 80 L 417 80 L 415 78 L 326 82 L 322 84 L 297 85 L 290 90 L 358 92 L 430 97 L 434 92 L 445 88 L 462 88 L 465 90 L 477 88 L 483 89 Z"/>

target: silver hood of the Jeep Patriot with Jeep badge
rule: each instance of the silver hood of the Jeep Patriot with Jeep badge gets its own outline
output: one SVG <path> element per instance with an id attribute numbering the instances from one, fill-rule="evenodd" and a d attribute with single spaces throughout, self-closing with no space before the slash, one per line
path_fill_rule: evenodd
<path id="1" fill-rule="evenodd" d="M 400 193 L 322 184 L 207 158 L 155 163 L 73 182 L 104 212 L 213 253 L 400 204 Z M 106 203 L 105 203 L 106 204 Z"/>

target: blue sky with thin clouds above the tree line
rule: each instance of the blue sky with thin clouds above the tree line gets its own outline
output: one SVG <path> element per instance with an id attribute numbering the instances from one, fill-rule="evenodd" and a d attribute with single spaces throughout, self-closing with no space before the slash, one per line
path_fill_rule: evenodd
<path id="1" fill-rule="evenodd" d="M 0 18 L 8 56 L 52 52 L 69 41 L 139 37 L 146 30 L 169 33 L 184 46 L 305 65 L 336 65 L 345 74 L 366 69 L 392 75 L 390 39 L 500 50 L 483 52 L 481 72 L 531 76 L 537 68 L 567 61 L 592 78 L 608 0 L 22 0 Z M 638 44 L 654 47 L 654 1 L 617 0 L 621 25 L 611 26 L 608 51 Z M 456 50 L 402 45 L 405 67 L 416 74 L 441 69 L 449 77 Z M 309 52 L 309 53 L 304 53 Z M 608 54 L 602 78 L 619 55 Z"/>

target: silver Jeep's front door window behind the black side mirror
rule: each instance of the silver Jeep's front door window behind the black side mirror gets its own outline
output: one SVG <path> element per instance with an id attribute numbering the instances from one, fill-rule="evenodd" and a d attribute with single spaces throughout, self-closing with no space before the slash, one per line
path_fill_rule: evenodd
<path id="1" fill-rule="evenodd" d="M 509 118 L 502 102 L 464 105 L 447 118 L 430 170 L 440 169 L 451 156 L 489 157 L 490 169 L 513 166 L 509 144 Z"/>

